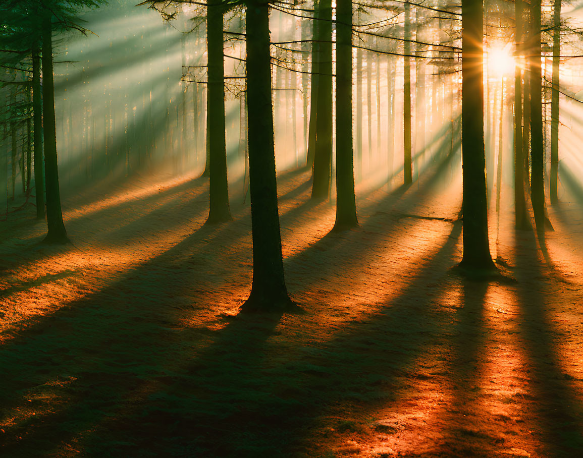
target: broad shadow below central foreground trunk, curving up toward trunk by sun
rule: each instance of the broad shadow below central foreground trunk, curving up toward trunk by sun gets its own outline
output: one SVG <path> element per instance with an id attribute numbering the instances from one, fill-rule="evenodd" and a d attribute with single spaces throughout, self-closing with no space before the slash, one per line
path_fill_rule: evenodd
<path id="1" fill-rule="evenodd" d="M 147 399 L 138 416 L 123 421 L 145 425 L 147 437 L 114 421 L 107 428 L 114 431 L 111 442 L 125 436 L 129 455 L 152 447 L 167 456 L 217 457 L 289 457 L 309 450 L 314 445 L 304 439 L 331 406 L 390 400 L 391 387 L 436 339 L 445 318 L 428 304 L 440 297 L 441 288 L 424 296 L 420 287 L 427 276 L 443 275 L 439 267 L 447 264 L 460 232 L 458 223 L 402 295 L 375 315 L 347 324 L 331 341 L 301 347 L 293 337 L 279 339 L 286 329 L 274 330 L 273 323 L 233 319 L 178 380 Z M 297 325 L 304 319 L 310 318 L 298 317 Z M 175 439 L 170 449 L 168 438 Z M 103 442 L 94 446 L 101 454 L 111 450 Z"/>

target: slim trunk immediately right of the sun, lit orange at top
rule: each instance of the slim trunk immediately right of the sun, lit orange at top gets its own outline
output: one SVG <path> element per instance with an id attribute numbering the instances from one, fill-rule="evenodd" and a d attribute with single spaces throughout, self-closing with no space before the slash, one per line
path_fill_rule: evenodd
<path id="1" fill-rule="evenodd" d="M 522 51 L 522 0 L 515 2 L 517 54 Z M 528 229 L 524 200 L 524 155 L 522 150 L 522 79 L 521 68 L 514 67 L 514 225 L 518 230 Z"/>

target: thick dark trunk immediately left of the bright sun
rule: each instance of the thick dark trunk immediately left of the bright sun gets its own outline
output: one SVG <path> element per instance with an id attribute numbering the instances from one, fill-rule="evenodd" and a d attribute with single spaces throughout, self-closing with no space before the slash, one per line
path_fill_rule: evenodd
<path id="1" fill-rule="evenodd" d="M 470 270 L 491 270 L 484 156 L 483 9 L 462 0 L 463 259 Z"/>

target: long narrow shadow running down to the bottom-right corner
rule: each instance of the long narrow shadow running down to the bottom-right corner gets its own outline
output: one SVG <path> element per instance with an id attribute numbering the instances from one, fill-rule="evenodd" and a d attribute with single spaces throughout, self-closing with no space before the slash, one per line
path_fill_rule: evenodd
<path id="1" fill-rule="evenodd" d="M 560 334 L 549 323 L 549 298 L 543 293 L 546 282 L 532 287 L 533 280 L 544 276 L 536 256 L 535 235 L 517 239 L 516 245 L 517 270 L 522 277 L 518 278 L 520 328 L 525 357 L 532 370 L 537 420 L 548 449 L 545 456 L 577 456 L 583 449 L 583 408 L 568 382 L 571 378 L 560 370 L 562 361 L 556 349 Z"/>

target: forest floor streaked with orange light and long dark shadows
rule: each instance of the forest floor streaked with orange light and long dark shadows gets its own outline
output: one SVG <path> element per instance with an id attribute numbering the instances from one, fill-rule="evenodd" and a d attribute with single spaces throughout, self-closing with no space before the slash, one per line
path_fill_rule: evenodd
<path id="1" fill-rule="evenodd" d="M 204 178 L 68 196 L 69 245 L 40 243 L 33 208 L 11 213 L 0 455 L 581 456 L 582 207 L 551 207 L 541 243 L 515 235 L 512 206 L 499 223 L 493 209 L 491 249 L 512 279 L 463 279 L 458 163 L 359 189 L 360 227 L 339 234 L 309 172 L 282 174 L 297 315 L 238 313 L 249 207 L 235 195 L 233 221 L 203 226 Z"/>

